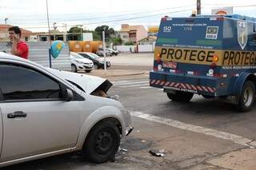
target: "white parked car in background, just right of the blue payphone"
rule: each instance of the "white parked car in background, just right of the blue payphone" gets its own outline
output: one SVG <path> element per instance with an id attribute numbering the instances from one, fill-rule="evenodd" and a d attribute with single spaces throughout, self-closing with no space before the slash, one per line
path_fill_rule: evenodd
<path id="1" fill-rule="evenodd" d="M 78 53 L 70 52 L 71 71 L 77 73 L 78 71 L 86 71 L 90 73 L 94 69 L 94 62 L 82 57 Z"/>

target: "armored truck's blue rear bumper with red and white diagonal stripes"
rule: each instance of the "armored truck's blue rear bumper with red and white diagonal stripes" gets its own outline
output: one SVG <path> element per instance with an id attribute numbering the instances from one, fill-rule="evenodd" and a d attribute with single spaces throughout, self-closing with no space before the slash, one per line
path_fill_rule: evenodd
<path id="1" fill-rule="evenodd" d="M 150 86 L 190 93 L 217 96 L 218 77 L 192 76 L 178 73 L 150 72 Z"/>

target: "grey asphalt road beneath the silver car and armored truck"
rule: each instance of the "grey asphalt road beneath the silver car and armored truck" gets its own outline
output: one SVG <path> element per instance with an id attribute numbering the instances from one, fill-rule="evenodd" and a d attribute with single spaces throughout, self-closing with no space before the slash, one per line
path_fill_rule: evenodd
<path id="1" fill-rule="evenodd" d="M 161 89 L 150 88 L 148 74 L 110 80 L 110 96 L 119 95 L 134 125 L 114 162 L 90 164 L 72 153 L 6 169 L 224 169 L 210 160 L 255 146 L 256 106 L 238 113 L 232 105 L 198 95 L 189 103 L 170 101 Z M 152 150 L 164 156 L 153 156 Z"/>

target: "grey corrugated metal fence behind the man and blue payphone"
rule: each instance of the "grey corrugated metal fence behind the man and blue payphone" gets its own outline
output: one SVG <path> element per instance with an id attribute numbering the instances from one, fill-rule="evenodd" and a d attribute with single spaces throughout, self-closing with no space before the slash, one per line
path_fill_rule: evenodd
<path id="1" fill-rule="evenodd" d="M 59 70 L 71 70 L 70 63 L 70 49 L 67 42 L 66 45 L 62 49 L 62 52 L 58 55 L 57 58 L 51 59 L 52 68 Z M 29 60 L 38 63 L 39 65 L 44 65 L 49 67 L 49 42 L 28 42 L 30 52 L 29 52 Z M 10 53 L 11 44 L 10 42 L 0 42 L 0 51 L 6 51 Z"/>

